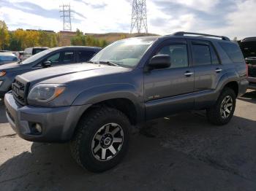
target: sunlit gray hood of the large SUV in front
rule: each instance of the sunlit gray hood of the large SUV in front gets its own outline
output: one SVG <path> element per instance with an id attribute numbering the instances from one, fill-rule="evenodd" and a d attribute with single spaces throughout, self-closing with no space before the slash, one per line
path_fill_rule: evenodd
<path id="1" fill-rule="evenodd" d="M 118 66 L 106 66 L 95 63 L 79 63 L 66 66 L 55 66 L 22 74 L 27 82 L 66 83 L 88 77 L 113 74 L 130 69 Z"/>

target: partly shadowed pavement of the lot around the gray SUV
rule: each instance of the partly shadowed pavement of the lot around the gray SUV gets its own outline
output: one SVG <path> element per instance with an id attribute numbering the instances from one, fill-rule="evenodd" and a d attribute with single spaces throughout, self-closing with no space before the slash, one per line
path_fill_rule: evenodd
<path id="1" fill-rule="evenodd" d="M 146 123 L 122 163 L 102 174 L 83 171 L 68 144 L 20 139 L 0 104 L 0 190 L 256 190 L 256 91 L 238 98 L 225 126 L 205 112 Z"/>

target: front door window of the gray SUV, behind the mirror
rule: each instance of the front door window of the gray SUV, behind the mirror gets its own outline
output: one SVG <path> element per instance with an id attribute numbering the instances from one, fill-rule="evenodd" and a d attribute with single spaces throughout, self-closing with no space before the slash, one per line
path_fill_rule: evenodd
<path id="1" fill-rule="evenodd" d="M 187 44 L 171 44 L 162 47 L 157 55 L 170 55 L 170 68 L 183 68 L 189 66 L 187 58 Z"/>

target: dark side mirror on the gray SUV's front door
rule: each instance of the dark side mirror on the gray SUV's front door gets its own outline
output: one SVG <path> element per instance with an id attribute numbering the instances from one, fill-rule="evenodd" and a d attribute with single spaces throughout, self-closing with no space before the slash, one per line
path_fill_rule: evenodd
<path id="1" fill-rule="evenodd" d="M 148 63 L 150 69 L 166 69 L 170 67 L 170 55 L 154 55 Z"/>

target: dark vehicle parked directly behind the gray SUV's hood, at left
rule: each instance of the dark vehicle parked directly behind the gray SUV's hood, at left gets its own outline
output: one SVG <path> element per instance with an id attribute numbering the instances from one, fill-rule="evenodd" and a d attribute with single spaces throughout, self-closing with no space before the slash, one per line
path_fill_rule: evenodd
<path id="1" fill-rule="evenodd" d="M 0 97 L 11 90 L 16 75 L 48 66 L 61 66 L 89 61 L 99 52 L 99 47 L 56 47 L 33 55 L 23 62 L 0 66 Z"/>

